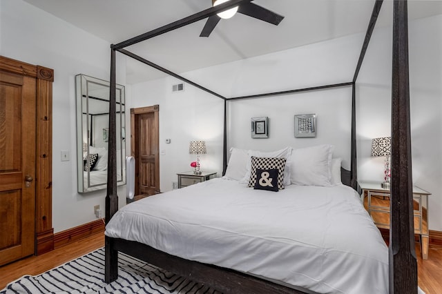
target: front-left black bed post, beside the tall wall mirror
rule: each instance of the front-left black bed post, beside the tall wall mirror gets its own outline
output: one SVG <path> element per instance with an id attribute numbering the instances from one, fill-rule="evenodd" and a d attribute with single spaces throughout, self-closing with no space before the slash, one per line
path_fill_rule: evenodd
<path id="1" fill-rule="evenodd" d="M 115 50 L 111 49 L 111 86 L 109 95 L 109 138 L 108 138 L 108 186 L 106 193 L 106 224 L 111 220 L 111 217 L 118 210 L 118 195 L 117 195 L 117 135 L 116 135 L 116 88 L 115 81 Z M 105 237 L 105 253 L 104 253 L 104 280 L 110 283 L 117 280 L 118 268 L 117 258 L 118 253 L 113 249 L 113 241 L 110 237 Z"/>

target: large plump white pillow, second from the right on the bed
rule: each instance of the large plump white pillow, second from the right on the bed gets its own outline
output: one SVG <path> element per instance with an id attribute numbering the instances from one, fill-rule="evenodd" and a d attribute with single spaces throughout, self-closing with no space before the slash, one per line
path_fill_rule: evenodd
<path id="1" fill-rule="evenodd" d="M 289 164 L 291 184 L 332 186 L 331 162 L 334 146 L 319 145 L 294 149 Z"/>

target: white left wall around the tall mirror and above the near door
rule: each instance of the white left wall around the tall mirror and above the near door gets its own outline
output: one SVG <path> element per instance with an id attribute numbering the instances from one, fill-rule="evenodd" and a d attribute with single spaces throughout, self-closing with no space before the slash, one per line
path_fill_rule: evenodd
<path id="1" fill-rule="evenodd" d="M 54 69 L 52 97 L 52 223 L 55 233 L 95 220 L 106 190 L 77 193 L 75 75 L 109 79 L 110 44 L 21 0 L 0 1 L 0 54 Z M 117 81 L 125 82 L 125 59 L 117 56 Z M 70 161 L 61 161 L 68 150 Z M 119 188 L 120 204 L 125 186 Z"/>

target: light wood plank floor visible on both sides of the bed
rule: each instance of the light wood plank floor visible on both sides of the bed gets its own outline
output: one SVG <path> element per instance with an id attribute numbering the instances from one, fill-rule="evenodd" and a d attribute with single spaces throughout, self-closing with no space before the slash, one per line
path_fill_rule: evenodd
<path id="1" fill-rule="evenodd" d="M 9 282 L 15 281 L 23 275 L 38 275 L 103 246 L 104 234 L 97 233 L 57 248 L 50 253 L 27 257 L 18 262 L 1 266 L 0 289 L 3 289 Z M 442 246 L 430 245 L 428 259 L 422 260 L 420 257 L 421 249 L 419 244 L 416 244 L 416 255 L 418 256 L 419 286 L 427 294 L 442 293 Z"/>

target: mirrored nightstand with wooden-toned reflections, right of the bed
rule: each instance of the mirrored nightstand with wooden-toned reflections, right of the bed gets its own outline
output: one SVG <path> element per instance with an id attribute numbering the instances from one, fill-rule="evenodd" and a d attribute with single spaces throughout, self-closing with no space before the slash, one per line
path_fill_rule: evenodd
<path id="1" fill-rule="evenodd" d="M 365 209 L 378 228 L 390 229 L 390 189 L 381 183 L 360 182 Z M 428 195 L 431 193 L 413 186 L 414 233 L 419 235 L 422 259 L 428 259 Z M 365 201 L 364 198 L 367 198 Z"/>

